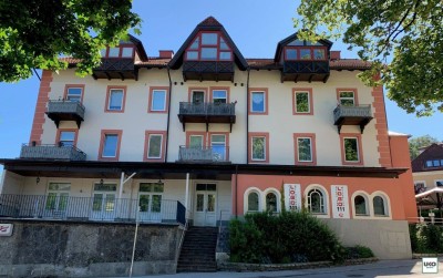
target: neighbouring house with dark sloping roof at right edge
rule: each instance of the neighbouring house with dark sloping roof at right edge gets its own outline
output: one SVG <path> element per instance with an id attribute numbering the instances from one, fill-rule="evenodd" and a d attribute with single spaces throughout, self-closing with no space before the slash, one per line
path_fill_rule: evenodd
<path id="1" fill-rule="evenodd" d="M 443 186 L 443 144 L 423 147 L 412 162 L 415 194 Z"/>

